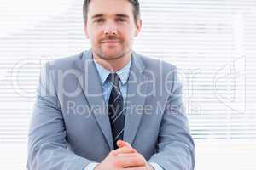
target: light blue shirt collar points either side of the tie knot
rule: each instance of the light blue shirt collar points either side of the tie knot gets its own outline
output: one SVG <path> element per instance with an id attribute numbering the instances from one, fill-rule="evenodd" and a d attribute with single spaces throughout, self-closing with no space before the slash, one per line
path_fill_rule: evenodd
<path id="1" fill-rule="evenodd" d="M 111 71 L 108 71 L 107 69 L 102 67 L 102 65 L 99 65 L 94 59 L 93 59 L 93 61 L 96 65 L 96 69 L 100 75 L 101 82 L 102 82 L 102 84 L 104 84 L 108 78 L 108 75 L 111 73 Z M 125 83 L 128 81 L 130 68 L 131 68 L 131 59 L 130 59 L 129 63 L 127 65 L 125 65 L 124 68 L 122 68 L 116 72 L 119 75 L 120 80 L 123 85 L 125 85 Z"/>

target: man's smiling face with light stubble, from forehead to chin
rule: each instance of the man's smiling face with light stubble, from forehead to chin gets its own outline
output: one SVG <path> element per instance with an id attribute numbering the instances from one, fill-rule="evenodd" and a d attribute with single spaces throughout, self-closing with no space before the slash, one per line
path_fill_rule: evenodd
<path id="1" fill-rule="evenodd" d="M 91 0 L 84 31 L 93 52 L 102 59 L 119 59 L 131 53 L 134 37 L 141 30 L 127 0 Z"/>

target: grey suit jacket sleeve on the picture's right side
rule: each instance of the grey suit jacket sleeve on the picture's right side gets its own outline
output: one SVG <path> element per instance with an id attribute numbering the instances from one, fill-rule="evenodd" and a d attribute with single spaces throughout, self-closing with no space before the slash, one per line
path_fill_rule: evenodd
<path id="1" fill-rule="evenodd" d="M 149 162 L 165 170 L 192 170 L 195 167 L 195 144 L 189 134 L 187 117 L 183 111 L 182 85 L 177 69 L 172 71 L 170 94 L 160 124 L 156 153 Z"/>

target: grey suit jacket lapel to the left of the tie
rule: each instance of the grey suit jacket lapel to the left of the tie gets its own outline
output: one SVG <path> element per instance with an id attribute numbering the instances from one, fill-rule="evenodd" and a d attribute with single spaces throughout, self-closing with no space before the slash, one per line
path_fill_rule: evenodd
<path id="1" fill-rule="evenodd" d="M 85 97 L 90 104 L 90 109 L 96 118 L 98 126 L 108 141 L 110 149 L 113 150 L 113 136 L 108 117 L 108 109 L 103 99 L 102 84 L 96 71 L 91 51 L 84 52 L 82 62 L 79 65 L 83 71 L 78 78 L 79 83 L 84 90 Z"/>

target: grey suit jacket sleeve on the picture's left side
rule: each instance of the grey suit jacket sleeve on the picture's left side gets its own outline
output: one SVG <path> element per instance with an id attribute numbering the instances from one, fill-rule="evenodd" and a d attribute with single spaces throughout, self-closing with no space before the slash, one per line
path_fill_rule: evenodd
<path id="1" fill-rule="evenodd" d="M 67 150 L 66 128 L 55 90 L 53 70 L 44 66 L 28 136 L 29 170 L 82 170 L 93 161 Z"/>

